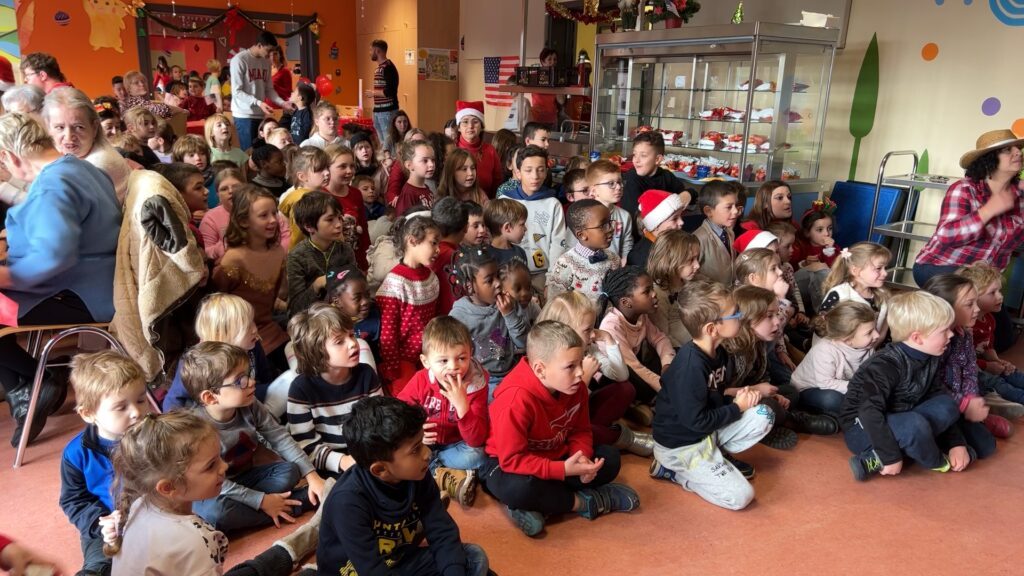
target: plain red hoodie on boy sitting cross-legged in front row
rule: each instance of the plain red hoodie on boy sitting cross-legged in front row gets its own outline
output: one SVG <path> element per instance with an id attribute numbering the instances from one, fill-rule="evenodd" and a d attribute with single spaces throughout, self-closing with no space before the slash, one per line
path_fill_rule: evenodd
<path id="1" fill-rule="evenodd" d="M 523 358 L 495 389 L 485 447 L 506 472 L 565 480 L 564 459 L 594 456 L 587 386 L 566 396 L 544 387 Z"/>

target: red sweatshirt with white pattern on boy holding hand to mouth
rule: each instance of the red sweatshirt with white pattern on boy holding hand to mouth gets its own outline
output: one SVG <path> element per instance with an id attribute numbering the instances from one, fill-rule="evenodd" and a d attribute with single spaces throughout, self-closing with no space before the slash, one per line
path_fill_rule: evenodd
<path id="1" fill-rule="evenodd" d="M 461 420 L 441 394 L 433 373 L 426 368 L 417 372 L 398 394 L 398 400 L 422 406 L 427 411 L 427 421 L 437 423 L 434 429 L 439 446 L 465 442 L 470 448 L 481 448 L 487 441 L 487 371 L 474 360 L 466 379 L 469 411 Z"/>

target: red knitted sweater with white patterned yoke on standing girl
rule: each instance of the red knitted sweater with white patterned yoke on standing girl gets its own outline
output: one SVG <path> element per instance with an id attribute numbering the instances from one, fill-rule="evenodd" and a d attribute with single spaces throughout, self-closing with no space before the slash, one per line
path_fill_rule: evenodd
<path id="1" fill-rule="evenodd" d="M 380 375 L 386 383 L 419 368 L 423 329 L 437 316 L 440 284 L 427 266 L 398 262 L 377 290 L 381 308 Z M 404 364 L 404 367 L 402 366 Z M 398 390 L 392 390 L 397 394 Z"/>

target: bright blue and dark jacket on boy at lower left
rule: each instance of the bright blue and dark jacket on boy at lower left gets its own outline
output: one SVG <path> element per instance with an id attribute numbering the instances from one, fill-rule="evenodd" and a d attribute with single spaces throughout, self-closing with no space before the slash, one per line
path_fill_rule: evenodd
<path id="1" fill-rule="evenodd" d="M 60 509 L 80 533 L 93 538 L 100 537 L 96 521 L 114 509 L 114 446 L 90 424 L 68 443 L 60 459 Z"/>

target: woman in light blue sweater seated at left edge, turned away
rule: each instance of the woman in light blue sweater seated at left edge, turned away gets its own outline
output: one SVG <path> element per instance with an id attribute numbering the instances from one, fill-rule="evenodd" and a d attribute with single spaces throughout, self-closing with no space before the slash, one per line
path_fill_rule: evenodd
<path id="1" fill-rule="evenodd" d="M 29 183 L 24 202 L 7 212 L 7 262 L 0 266 L 0 324 L 81 324 L 114 316 L 114 260 L 121 206 L 98 168 L 65 155 L 33 118 L 0 116 L 0 164 Z M 0 384 L 7 393 L 17 446 L 29 410 L 37 362 L 14 336 L 0 338 Z M 29 433 L 42 430 L 67 387 L 44 380 Z"/>

